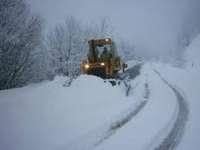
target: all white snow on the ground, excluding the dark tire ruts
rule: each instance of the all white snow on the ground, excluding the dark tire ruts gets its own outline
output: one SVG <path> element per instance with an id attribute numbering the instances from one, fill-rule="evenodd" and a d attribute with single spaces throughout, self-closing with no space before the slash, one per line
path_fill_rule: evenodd
<path id="1" fill-rule="evenodd" d="M 189 118 L 178 150 L 200 148 L 200 36 L 185 53 L 185 68 L 145 63 L 131 80 L 126 96 L 123 84 L 81 75 L 70 87 L 66 77 L 27 87 L 0 91 L 1 150 L 146 150 L 155 149 L 177 117 L 177 97 L 153 71 L 156 69 L 184 94 Z M 134 62 L 129 62 L 129 67 Z M 148 85 L 148 86 L 145 86 Z M 148 93 L 148 94 L 147 94 Z M 146 102 L 127 123 L 117 122 Z"/>

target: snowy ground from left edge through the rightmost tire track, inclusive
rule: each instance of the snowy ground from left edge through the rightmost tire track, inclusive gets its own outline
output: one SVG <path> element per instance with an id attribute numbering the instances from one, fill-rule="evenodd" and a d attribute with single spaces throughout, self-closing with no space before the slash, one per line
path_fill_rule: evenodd
<path id="1" fill-rule="evenodd" d="M 80 76 L 70 87 L 59 77 L 1 91 L 0 149 L 175 148 L 189 112 L 181 90 L 148 63 L 126 74 L 128 94 L 123 84 L 112 87 L 93 76 Z"/>

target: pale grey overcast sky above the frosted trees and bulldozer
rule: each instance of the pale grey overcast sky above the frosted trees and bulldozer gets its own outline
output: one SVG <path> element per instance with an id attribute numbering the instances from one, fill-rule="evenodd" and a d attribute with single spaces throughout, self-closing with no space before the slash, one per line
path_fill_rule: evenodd
<path id="1" fill-rule="evenodd" d="M 51 29 L 67 16 L 92 23 L 108 17 L 115 35 L 146 55 L 166 55 L 200 28 L 200 0 L 27 0 Z"/>

